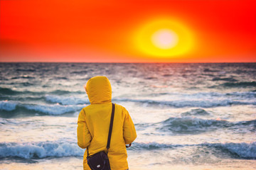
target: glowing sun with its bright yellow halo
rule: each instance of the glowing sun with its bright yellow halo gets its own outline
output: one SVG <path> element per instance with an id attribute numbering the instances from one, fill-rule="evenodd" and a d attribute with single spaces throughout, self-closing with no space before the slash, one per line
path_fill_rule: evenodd
<path id="1" fill-rule="evenodd" d="M 175 57 L 189 52 L 193 34 L 183 23 L 157 18 L 142 24 L 134 33 L 137 50 L 151 57 Z"/>

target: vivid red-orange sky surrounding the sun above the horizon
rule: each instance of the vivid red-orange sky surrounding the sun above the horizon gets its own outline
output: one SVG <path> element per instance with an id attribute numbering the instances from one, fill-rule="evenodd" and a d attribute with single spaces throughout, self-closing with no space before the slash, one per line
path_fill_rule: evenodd
<path id="1" fill-rule="evenodd" d="M 193 35 L 182 55 L 134 45 L 144 24 L 178 21 Z M 256 62 L 255 0 L 0 0 L 0 62 Z"/>

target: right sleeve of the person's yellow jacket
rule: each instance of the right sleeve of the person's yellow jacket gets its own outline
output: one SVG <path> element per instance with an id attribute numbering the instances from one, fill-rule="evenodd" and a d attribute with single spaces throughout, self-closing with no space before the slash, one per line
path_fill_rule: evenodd
<path id="1" fill-rule="evenodd" d="M 132 122 L 132 118 L 125 108 L 124 108 L 124 114 L 125 114 L 124 126 L 123 126 L 124 142 L 125 144 L 130 144 L 136 139 L 137 133 L 134 127 L 134 123 Z"/>

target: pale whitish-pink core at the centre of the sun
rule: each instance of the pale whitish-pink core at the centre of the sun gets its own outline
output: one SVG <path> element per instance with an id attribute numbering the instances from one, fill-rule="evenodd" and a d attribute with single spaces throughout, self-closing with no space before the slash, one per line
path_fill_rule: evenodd
<path id="1" fill-rule="evenodd" d="M 156 47 L 169 49 L 177 45 L 178 35 L 169 29 L 161 29 L 151 36 L 151 40 Z"/>

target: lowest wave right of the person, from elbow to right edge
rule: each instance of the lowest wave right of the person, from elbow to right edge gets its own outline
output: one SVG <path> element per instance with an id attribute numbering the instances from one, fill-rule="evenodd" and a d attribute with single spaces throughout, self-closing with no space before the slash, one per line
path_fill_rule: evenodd
<path id="1" fill-rule="evenodd" d="M 195 145 L 172 145 L 172 144 L 161 144 L 158 142 L 149 143 L 138 143 L 134 142 L 132 145 L 133 150 L 154 150 L 154 149 L 176 149 L 178 147 L 207 147 L 208 149 L 214 149 L 215 153 L 225 154 L 228 152 L 233 158 L 240 159 L 256 159 L 256 142 L 251 143 L 203 143 Z"/>

